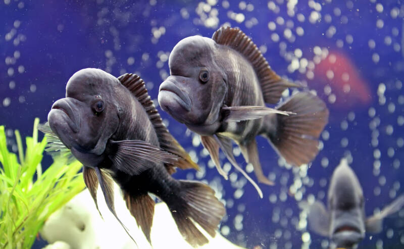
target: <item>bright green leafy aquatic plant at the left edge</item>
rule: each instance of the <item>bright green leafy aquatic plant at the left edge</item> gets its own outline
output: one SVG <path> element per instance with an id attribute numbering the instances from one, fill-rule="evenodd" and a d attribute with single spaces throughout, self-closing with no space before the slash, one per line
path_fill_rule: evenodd
<path id="1" fill-rule="evenodd" d="M 8 151 L 4 126 L 0 126 L 0 248 L 30 248 L 45 220 L 84 189 L 82 165 L 55 157 L 42 172 L 46 137 L 38 142 L 39 119 L 26 150 L 18 130 L 18 156 Z M 34 180 L 36 179 L 36 180 Z"/>

